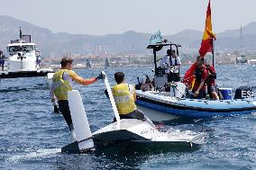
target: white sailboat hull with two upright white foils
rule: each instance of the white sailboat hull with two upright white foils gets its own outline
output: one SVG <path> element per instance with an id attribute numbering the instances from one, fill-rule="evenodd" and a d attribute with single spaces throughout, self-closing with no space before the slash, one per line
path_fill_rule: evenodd
<path id="1" fill-rule="evenodd" d="M 194 145 L 199 145 L 205 139 L 205 133 L 197 134 L 188 130 L 162 132 L 157 130 L 153 124 L 146 121 L 136 119 L 121 120 L 107 77 L 105 77 L 105 85 L 114 109 L 116 121 L 91 133 L 81 96 L 77 90 L 70 91 L 68 93 L 69 109 L 74 125 L 76 141 L 62 148 L 62 152 L 83 153 L 91 148 L 104 148 L 109 145 L 128 148 L 136 145 L 144 148 L 151 145 L 174 145 L 176 147 L 177 145 L 181 145 L 183 148 L 190 148 Z"/>

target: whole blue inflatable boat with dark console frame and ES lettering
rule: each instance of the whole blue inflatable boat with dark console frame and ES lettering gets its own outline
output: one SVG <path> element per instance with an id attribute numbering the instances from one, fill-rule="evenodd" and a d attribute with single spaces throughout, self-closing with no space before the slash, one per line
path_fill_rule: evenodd
<path id="1" fill-rule="evenodd" d="M 146 83 L 140 81 L 135 86 L 136 104 L 151 121 L 169 121 L 180 117 L 201 119 L 256 112 L 256 98 L 250 87 L 239 87 L 235 91 L 234 98 L 231 88 L 219 88 L 223 100 L 190 99 L 187 95 L 187 85 L 181 82 L 169 82 L 164 68 L 157 66 L 161 58 L 157 59 L 156 52 L 163 47 L 176 49 L 178 54 L 180 45 L 162 42 L 148 46 L 147 49 L 153 49 L 154 54 L 154 89 L 142 89 L 142 84 Z M 169 85 L 169 90 L 165 89 L 166 85 Z"/>

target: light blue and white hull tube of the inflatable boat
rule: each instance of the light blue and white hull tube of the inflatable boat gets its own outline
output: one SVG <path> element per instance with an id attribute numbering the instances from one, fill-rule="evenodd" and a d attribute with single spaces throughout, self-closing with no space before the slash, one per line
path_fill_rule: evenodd
<path id="1" fill-rule="evenodd" d="M 256 112 L 256 99 L 206 100 L 170 96 L 169 92 L 136 90 L 136 104 L 152 121 L 211 118 Z"/>

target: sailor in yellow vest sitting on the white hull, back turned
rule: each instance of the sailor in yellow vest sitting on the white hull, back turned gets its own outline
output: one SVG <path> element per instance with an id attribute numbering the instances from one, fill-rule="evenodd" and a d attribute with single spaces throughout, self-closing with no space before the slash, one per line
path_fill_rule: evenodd
<path id="1" fill-rule="evenodd" d="M 135 88 L 133 85 L 124 83 L 123 72 L 116 72 L 114 74 L 114 80 L 117 85 L 114 85 L 112 92 L 117 111 L 120 115 L 120 119 L 138 119 L 142 121 L 148 121 L 152 124 L 152 122 L 144 115 L 144 113 L 137 109 L 135 104 Z M 114 121 L 116 121 L 115 118 Z"/>

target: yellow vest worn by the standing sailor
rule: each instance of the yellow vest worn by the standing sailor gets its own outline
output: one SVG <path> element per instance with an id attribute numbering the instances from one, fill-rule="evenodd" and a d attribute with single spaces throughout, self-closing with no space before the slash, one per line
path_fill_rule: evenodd
<path id="1" fill-rule="evenodd" d="M 72 86 L 69 85 L 69 81 L 63 80 L 63 74 L 68 69 L 60 69 L 52 77 L 52 83 L 56 85 L 54 94 L 58 100 L 68 100 L 68 91 L 72 90 Z"/>

